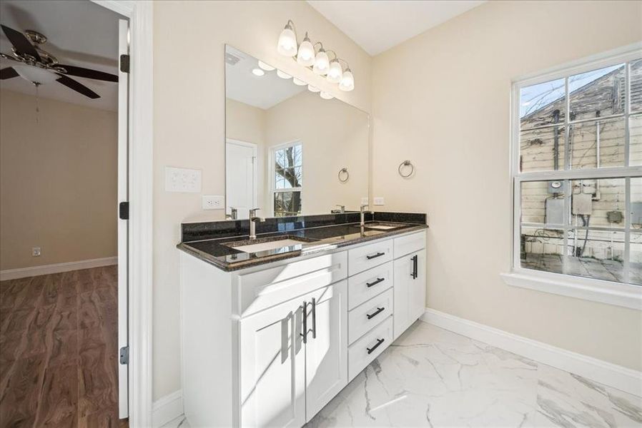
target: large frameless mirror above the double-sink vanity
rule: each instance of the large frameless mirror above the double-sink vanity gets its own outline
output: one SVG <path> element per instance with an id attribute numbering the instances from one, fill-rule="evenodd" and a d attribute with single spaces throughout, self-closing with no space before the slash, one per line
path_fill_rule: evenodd
<path id="1" fill-rule="evenodd" d="M 325 96 L 325 94 L 324 94 Z M 358 210 L 368 196 L 367 113 L 225 47 L 228 218 Z"/>

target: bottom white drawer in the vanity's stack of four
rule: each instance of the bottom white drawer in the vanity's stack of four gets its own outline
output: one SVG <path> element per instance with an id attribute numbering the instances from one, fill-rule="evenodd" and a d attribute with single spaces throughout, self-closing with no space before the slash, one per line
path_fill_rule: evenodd
<path id="1" fill-rule="evenodd" d="M 348 382 L 392 343 L 392 317 L 381 322 L 347 350 Z"/>

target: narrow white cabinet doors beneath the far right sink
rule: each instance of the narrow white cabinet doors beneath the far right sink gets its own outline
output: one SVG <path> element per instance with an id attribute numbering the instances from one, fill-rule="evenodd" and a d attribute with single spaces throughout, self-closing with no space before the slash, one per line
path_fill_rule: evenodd
<path id="1" fill-rule="evenodd" d="M 425 250 L 395 260 L 395 339 L 425 311 Z"/>

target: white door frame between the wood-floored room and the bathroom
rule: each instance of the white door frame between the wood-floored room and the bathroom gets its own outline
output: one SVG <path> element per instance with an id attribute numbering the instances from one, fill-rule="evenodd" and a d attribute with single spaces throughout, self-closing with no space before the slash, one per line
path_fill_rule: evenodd
<path id="1" fill-rule="evenodd" d="M 154 5 L 92 1 L 129 18 L 129 427 L 151 427 Z"/>

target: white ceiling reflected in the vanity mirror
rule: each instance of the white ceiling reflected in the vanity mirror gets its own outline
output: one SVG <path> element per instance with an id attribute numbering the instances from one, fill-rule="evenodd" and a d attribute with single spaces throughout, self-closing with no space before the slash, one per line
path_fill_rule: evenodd
<path id="1" fill-rule="evenodd" d="M 307 86 L 297 86 L 292 78 L 277 76 L 277 71 L 266 71 L 263 76 L 252 74 L 258 68 L 257 58 L 225 46 L 226 54 L 240 58 L 235 65 L 225 63 L 225 96 L 241 103 L 266 110 L 291 96 L 307 91 Z"/>

